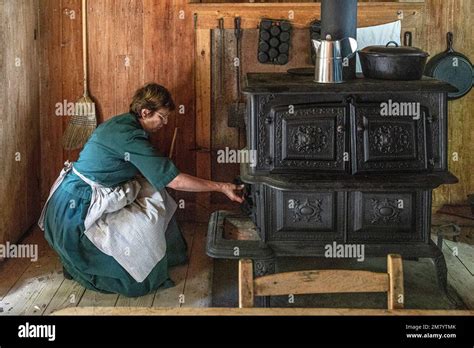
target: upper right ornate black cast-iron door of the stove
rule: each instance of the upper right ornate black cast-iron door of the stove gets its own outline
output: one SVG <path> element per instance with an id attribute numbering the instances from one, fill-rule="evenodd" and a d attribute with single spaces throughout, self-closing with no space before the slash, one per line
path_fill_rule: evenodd
<path id="1" fill-rule="evenodd" d="M 353 106 L 353 172 L 427 170 L 426 109 L 418 117 L 382 116 L 381 110 Z"/>

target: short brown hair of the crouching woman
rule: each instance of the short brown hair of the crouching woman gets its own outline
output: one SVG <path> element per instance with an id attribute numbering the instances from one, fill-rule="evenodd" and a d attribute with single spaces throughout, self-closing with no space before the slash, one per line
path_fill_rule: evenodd
<path id="1" fill-rule="evenodd" d="M 157 83 L 148 83 L 138 89 L 133 96 L 130 104 L 130 113 L 141 117 L 141 111 L 148 109 L 155 112 L 159 109 L 175 109 L 175 104 L 171 93 L 163 86 Z"/>

